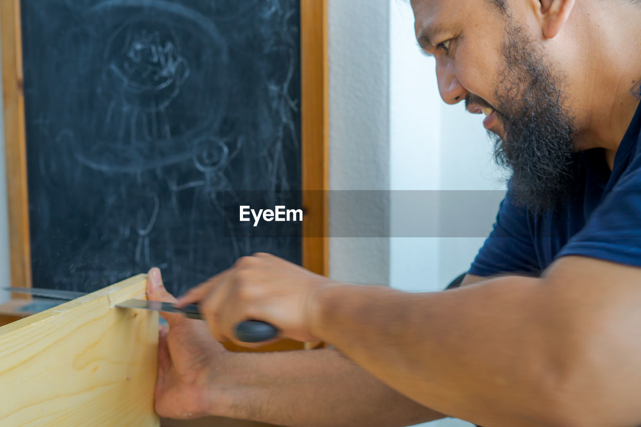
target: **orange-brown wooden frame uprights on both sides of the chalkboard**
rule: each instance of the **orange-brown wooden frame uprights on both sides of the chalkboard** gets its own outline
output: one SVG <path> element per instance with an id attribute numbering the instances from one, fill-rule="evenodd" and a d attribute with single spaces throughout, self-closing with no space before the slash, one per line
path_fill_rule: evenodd
<path id="1" fill-rule="evenodd" d="M 0 1 L 11 281 L 31 287 L 20 11 L 20 0 Z M 301 0 L 303 267 L 323 275 L 329 272 L 327 22 L 327 0 Z"/>

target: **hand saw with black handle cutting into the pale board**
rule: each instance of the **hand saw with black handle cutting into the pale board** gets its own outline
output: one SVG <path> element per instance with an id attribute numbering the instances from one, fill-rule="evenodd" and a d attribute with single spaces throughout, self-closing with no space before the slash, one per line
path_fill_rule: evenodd
<path id="1" fill-rule="evenodd" d="M 42 289 L 42 288 L 4 288 L 11 292 L 21 292 L 22 294 L 31 294 L 40 297 L 56 298 L 71 300 L 87 295 L 87 292 L 76 292 L 74 290 L 62 289 Z M 180 313 L 190 319 L 203 319 L 203 315 L 196 304 L 190 304 L 184 308 L 178 308 L 172 303 L 162 301 L 147 301 L 146 299 L 128 299 L 122 303 L 116 304 L 122 308 L 141 308 L 143 310 L 153 310 L 154 312 Z M 261 321 L 244 321 L 236 326 L 236 337 L 240 342 L 263 342 L 276 338 L 278 330 L 271 324 Z"/>

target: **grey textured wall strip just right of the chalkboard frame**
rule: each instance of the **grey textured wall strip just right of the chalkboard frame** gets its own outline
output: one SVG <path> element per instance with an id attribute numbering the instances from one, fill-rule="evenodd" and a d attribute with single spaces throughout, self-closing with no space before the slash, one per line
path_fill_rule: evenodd
<path id="1" fill-rule="evenodd" d="M 329 187 L 331 190 L 389 188 L 388 0 L 329 1 Z M 362 228 L 387 230 L 385 199 Z M 387 239 L 351 238 L 351 203 L 329 200 L 329 269 L 337 280 L 387 285 Z M 386 231 L 387 233 L 387 231 Z"/>

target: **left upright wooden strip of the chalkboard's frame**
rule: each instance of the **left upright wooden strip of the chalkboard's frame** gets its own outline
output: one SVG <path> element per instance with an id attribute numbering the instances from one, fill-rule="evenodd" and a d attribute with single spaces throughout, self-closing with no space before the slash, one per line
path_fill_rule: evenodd
<path id="1" fill-rule="evenodd" d="M 0 28 L 11 283 L 15 287 L 31 287 L 31 245 L 29 240 L 19 0 L 0 0 Z M 15 294 L 14 297 L 28 298 L 24 294 Z"/>

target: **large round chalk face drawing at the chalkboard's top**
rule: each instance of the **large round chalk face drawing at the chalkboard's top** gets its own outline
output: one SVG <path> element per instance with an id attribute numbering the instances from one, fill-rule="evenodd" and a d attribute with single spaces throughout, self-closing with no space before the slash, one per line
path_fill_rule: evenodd
<path id="1" fill-rule="evenodd" d="M 219 132 L 230 96 L 215 22 L 164 0 L 104 0 L 84 13 L 91 25 L 75 30 L 75 46 L 80 85 L 92 94 L 74 122 L 91 144 L 78 142 L 76 158 L 104 172 L 190 162 L 194 144 Z"/>

